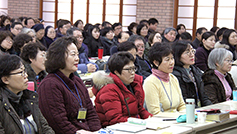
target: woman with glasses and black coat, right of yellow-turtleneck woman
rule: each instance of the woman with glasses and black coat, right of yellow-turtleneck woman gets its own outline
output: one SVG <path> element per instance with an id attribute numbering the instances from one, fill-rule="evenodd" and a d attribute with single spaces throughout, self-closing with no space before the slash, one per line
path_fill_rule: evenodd
<path id="1" fill-rule="evenodd" d="M 202 72 L 194 66 L 195 49 L 189 41 L 177 41 L 172 45 L 175 66 L 173 74 L 178 78 L 184 101 L 195 99 L 196 107 L 212 104 L 204 91 Z"/>

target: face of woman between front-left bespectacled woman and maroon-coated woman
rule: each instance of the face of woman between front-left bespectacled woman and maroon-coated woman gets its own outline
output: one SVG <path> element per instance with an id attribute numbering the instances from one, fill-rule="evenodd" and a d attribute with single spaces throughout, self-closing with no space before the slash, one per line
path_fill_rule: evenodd
<path id="1" fill-rule="evenodd" d="M 34 72 L 36 74 L 40 73 L 41 71 L 45 70 L 45 60 L 46 60 L 46 52 L 38 50 L 38 53 L 35 57 L 35 59 L 30 59 L 31 61 L 31 67 L 34 69 Z"/>

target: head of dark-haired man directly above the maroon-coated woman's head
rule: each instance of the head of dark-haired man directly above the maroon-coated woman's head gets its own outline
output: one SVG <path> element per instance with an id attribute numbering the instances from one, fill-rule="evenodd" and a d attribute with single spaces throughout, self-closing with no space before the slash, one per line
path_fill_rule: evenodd
<path id="1" fill-rule="evenodd" d="M 71 28 L 71 22 L 69 20 L 60 20 L 58 22 L 58 31 L 56 37 L 62 37 L 66 35 L 66 32 L 69 28 Z"/>

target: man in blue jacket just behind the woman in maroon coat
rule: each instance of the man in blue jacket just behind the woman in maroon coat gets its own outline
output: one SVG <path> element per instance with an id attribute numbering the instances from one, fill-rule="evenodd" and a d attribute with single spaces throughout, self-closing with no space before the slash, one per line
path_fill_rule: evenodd
<path id="1" fill-rule="evenodd" d="M 79 52 L 78 70 L 80 70 L 81 73 L 87 73 L 87 72 L 92 73 L 98 70 L 99 67 L 95 63 L 92 63 L 89 61 L 88 56 L 85 52 L 86 45 L 83 43 L 84 37 L 82 35 L 82 31 L 77 27 L 73 27 L 67 30 L 67 36 L 74 36 L 76 37 L 78 41 L 78 44 L 77 44 L 77 48 Z M 87 52 L 88 52 L 88 48 L 87 48 Z"/>

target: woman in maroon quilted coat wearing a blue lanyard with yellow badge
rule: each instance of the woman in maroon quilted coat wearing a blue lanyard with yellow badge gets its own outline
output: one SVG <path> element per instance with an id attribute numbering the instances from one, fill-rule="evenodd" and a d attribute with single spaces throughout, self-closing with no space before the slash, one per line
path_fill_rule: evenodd
<path id="1" fill-rule="evenodd" d="M 101 128 L 87 88 L 73 74 L 79 62 L 76 44 L 73 37 L 61 37 L 49 46 L 45 61 L 49 74 L 37 90 L 40 110 L 56 133 Z"/>

